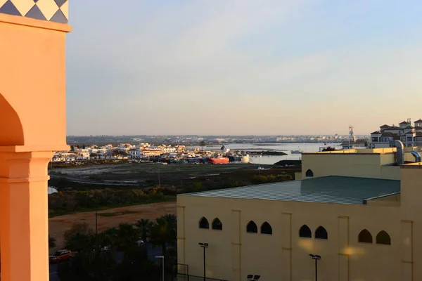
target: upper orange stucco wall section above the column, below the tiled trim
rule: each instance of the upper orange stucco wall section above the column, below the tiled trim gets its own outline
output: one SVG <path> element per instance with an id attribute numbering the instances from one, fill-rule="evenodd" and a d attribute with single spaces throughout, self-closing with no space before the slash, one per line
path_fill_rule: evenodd
<path id="1" fill-rule="evenodd" d="M 10 121 L 1 122 L 0 146 L 66 144 L 68 31 L 68 25 L 0 14 L 0 119 Z"/>

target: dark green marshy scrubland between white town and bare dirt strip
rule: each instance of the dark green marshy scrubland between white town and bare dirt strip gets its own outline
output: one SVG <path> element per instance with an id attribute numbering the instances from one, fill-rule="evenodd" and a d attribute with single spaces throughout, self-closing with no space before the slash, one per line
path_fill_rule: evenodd
<path id="1" fill-rule="evenodd" d="M 60 177 L 53 177 L 49 181 L 49 185 L 58 190 L 49 195 L 49 216 L 174 201 L 175 196 L 181 193 L 290 181 L 294 172 L 300 169 L 273 166 L 269 170 L 257 171 L 256 168 L 257 165 L 245 164 L 122 164 L 54 169 L 53 174 Z M 160 187 L 157 187 L 159 175 Z M 79 179 L 96 184 L 76 182 Z M 108 181 L 132 181 L 138 184 L 106 185 Z"/>

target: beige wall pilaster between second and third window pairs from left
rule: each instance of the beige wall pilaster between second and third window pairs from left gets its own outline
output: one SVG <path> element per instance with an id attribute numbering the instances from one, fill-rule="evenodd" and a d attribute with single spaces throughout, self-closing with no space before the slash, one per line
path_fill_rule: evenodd
<path id="1" fill-rule="evenodd" d="M 281 214 L 281 280 L 292 280 L 292 214 Z"/>

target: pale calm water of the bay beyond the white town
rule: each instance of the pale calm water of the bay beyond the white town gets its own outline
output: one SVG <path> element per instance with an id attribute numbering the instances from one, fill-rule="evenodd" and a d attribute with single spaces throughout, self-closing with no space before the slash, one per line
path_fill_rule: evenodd
<path id="1" fill-rule="evenodd" d="M 283 156 L 262 156 L 262 157 L 250 157 L 250 162 L 256 164 L 274 164 L 281 160 L 299 160 L 301 159 L 300 154 L 291 154 L 290 150 L 300 150 L 303 152 L 316 152 L 319 148 L 326 148 L 328 146 L 340 149 L 340 143 L 222 143 L 221 145 L 204 146 L 204 150 L 219 150 L 222 145 L 226 149 L 230 150 L 247 150 L 247 151 L 262 151 L 262 150 L 274 150 L 282 151 L 287 153 Z M 198 147 L 200 148 L 200 147 Z M 260 159 L 261 158 L 261 159 Z"/>

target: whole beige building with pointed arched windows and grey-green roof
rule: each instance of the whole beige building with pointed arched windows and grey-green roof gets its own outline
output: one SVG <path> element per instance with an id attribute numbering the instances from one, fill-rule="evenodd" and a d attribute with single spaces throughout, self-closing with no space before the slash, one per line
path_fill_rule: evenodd
<path id="1" fill-rule="evenodd" d="M 179 273 L 203 276 L 207 243 L 218 280 L 315 280 L 309 254 L 319 281 L 422 280 L 422 165 L 406 149 L 305 153 L 298 181 L 179 195 Z"/>

